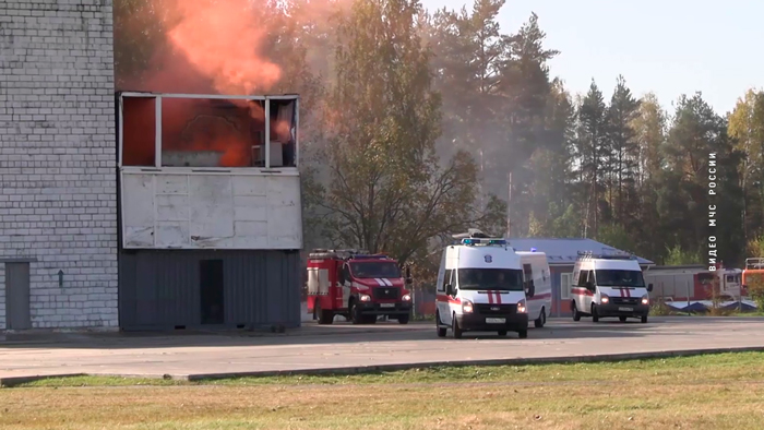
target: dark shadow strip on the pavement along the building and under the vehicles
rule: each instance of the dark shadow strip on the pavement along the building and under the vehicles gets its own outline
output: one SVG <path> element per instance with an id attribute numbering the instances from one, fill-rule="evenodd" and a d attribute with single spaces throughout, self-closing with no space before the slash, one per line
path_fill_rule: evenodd
<path id="1" fill-rule="evenodd" d="M 632 338 L 650 336 L 670 336 L 687 334 L 699 335 L 706 329 L 689 330 L 678 324 L 692 325 L 725 323 L 750 323 L 749 319 L 689 319 L 664 318 L 653 319 L 647 324 L 637 320 L 620 322 L 602 320 L 598 323 L 590 321 L 573 322 L 570 320 L 549 320 L 542 329 L 530 327 L 528 341 L 571 341 L 587 338 Z M 756 319 L 764 322 L 764 319 Z M 708 327 L 707 330 L 714 330 Z M 516 333 L 499 337 L 494 333 L 466 332 L 463 339 L 516 339 Z M 380 322 L 372 325 L 353 325 L 335 323 L 318 325 L 303 323 L 300 329 L 287 331 L 285 334 L 263 334 L 242 331 L 196 331 L 196 332 L 120 332 L 120 333 L 23 333 L 7 334 L 5 342 L 0 342 L 0 350 L 8 348 L 50 348 L 50 349 L 143 349 L 143 348 L 182 348 L 182 347 L 247 347 L 247 346 L 285 346 L 285 345 L 326 345 L 326 344 L 368 344 L 396 342 L 444 342 L 453 341 L 449 331 L 445 338 L 435 336 L 434 323 L 411 323 L 399 325 L 396 322 Z"/>

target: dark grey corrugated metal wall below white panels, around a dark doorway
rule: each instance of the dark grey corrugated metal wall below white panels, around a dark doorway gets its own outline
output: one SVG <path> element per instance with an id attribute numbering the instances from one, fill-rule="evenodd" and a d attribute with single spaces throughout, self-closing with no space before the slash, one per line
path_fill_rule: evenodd
<path id="1" fill-rule="evenodd" d="M 294 251 L 121 251 L 122 330 L 202 325 L 200 261 L 223 260 L 225 326 L 300 323 L 300 254 Z"/>

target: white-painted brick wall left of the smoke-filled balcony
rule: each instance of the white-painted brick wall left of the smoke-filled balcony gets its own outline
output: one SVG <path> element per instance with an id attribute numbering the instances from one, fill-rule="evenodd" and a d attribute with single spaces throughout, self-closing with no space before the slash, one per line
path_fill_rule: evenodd
<path id="1" fill-rule="evenodd" d="M 118 324 L 111 4 L 0 0 L 0 259 L 37 259 L 35 329 Z"/>

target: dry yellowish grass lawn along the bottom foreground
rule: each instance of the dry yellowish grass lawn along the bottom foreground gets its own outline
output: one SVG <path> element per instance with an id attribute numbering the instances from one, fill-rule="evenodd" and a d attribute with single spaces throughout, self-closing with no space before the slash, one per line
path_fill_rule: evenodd
<path id="1" fill-rule="evenodd" d="M 2 429 L 760 429 L 764 354 L 0 390 Z"/>

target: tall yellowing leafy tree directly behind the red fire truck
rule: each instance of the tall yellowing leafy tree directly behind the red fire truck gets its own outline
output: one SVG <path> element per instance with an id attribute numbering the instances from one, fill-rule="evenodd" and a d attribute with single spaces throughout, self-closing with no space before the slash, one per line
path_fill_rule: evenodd
<path id="1" fill-rule="evenodd" d="M 477 166 L 458 152 L 441 166 L 440 97 L 431 88 L 430 51 L 411 0 L 358 0 L 339 19 L 336 83 L 327 97 L 327 186 L 313 204 L 339 246 L 385 251 L 401 262 L 427 252 L 438 235 L 493 219 L 504 206 L 475 208 Z"/>

